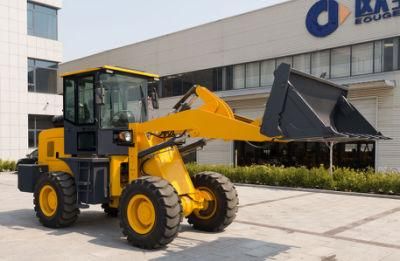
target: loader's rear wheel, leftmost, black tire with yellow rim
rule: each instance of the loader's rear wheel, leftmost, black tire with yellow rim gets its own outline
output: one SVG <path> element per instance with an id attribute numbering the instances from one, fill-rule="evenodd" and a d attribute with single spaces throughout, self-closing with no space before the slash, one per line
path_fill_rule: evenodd
<path id="1" fill-rule="evenodd" d="M 34 204 L 36 216 L 44 226 L 72 225 L 79 214 L 73 177 L 63 172 L 43 174 L 35 187 Z"/>

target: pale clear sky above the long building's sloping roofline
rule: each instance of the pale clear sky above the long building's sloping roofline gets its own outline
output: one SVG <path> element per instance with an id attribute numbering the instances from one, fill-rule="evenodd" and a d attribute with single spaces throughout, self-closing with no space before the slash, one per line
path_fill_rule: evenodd
<path id="1" fill-rule="evenodd" d="M 63 0 L 64 62 L 285 0 Z"/>

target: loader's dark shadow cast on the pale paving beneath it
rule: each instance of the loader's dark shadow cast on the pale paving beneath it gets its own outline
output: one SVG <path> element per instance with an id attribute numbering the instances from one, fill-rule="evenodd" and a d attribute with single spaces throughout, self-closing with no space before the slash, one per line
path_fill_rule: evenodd
<path id="1" fill-rule="evenodd" d="M 118 218 L 106 216 L 101 211 L 86 210 L 79 215 L 77 222 L 68 228 L 50 229 L 43 227 L 32 209 L 19 209 L 0 212 L 0 226 L 23 231 L 37 229 L 47 235 L 61 236 L 79 233 L 91 237 L 88 242 L 102 247 L 117 248 L 129 251 L 155 252 L 159 250 L 142 250 L 128 244 L 119 229 Z M 221 237 L 213 241 L 188 238 L 185 232 L 196 233 L 187 224 L 182 224 L 178 236 L 168 247 L 162 249 L 162 255 L 153 260 L 265 260 L 291 248 L 260 240 L 242 237 Z M 199 234 L 205 232 L 198 232 Z M 193 234 L 192 234 L 193 235 Z"/>

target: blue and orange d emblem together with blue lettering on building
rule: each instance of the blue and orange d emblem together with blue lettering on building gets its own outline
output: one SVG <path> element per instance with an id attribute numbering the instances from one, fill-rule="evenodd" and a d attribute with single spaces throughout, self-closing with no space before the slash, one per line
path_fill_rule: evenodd
<path id="1" fill-rule="evenodd" d="M 336 0 L 319 0 L 307 13 L 306 27 L 310 34 L 325 37 L 335 32 L 350 14 L 350 9 Z M 328 17 L 328 21 L 324 24 L 320 22 L 322 15 Z M 356 25 L 396 16 L 400 17 L 400 0 L 355 0 Z"/>

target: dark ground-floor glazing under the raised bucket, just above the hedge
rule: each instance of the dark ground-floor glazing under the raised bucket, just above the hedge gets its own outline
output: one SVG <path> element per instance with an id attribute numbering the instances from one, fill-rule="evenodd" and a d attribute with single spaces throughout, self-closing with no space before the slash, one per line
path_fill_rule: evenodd
<path id="1" fill-rule="evenodd" d="M 238 166 L 269 164 L 278 166 L 329 166 L 329 149 L 317 142 L 256 143 L 262 149 L 246 142 L 236 141 Z M 375 167 L 375 142 L 339 143 L 333 149 L 333 163 L 338 167 L 366 169 Z"/>

